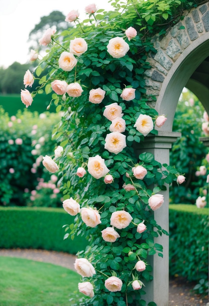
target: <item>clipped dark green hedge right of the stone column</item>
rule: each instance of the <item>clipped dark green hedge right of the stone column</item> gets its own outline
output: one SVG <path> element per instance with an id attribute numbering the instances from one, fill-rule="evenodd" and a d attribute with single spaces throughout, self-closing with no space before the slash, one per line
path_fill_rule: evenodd
<path id="1" fill-rule="evenodd" d="M 208 292 L 208 208 L 170 205 L 170 274 L 196 281 L 198 293 Z"/>

